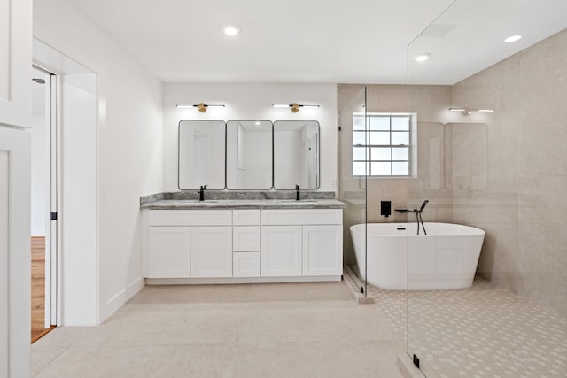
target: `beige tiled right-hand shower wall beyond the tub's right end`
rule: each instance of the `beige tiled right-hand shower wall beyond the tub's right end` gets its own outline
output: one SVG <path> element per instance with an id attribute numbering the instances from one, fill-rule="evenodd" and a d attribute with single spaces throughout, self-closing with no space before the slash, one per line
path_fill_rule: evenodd
<path id="1" fill-rule="evenodd" d="M 567 318 L 567 30 L 453 87 L 487 116 L 487 185 L 453 189 L 486 231 L 478 275 Z"/>

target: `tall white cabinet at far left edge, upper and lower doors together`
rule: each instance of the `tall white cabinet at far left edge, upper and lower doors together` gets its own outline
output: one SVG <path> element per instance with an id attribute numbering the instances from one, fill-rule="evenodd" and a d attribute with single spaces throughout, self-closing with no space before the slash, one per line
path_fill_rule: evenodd
<path id="1" fill-rule="evenodd" d="M 32 0 L 0 0 L 0 377 L 28 377 Z M 10 125 L 15 128 L 4 127 Z"/>

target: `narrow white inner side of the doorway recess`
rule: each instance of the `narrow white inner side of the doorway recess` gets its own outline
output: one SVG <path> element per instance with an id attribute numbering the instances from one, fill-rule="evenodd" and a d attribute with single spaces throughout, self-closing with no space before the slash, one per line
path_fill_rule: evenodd
<path id="1" fill-rule="evenodd" d="M 66 326 L 97 325 L 97 75 L 61 80 L 62 319 Z M 94 143 L 93 143 L 94 142 Z"/>

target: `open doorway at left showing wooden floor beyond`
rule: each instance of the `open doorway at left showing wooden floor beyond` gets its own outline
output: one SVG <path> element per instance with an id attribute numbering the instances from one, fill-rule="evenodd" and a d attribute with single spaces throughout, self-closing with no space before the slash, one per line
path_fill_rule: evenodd
<path id="1" fill-rule="evenodd" d="M 57 298 L 57 77 L 32 70 L 31 342 L 56 324 Z"/>

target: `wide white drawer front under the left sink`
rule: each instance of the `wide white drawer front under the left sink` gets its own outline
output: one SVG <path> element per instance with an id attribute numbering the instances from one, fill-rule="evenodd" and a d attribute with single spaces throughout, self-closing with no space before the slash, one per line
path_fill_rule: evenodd
<path id="1" fill-rule="evenodd" d="M 230 226 L 232 210 L 150 210 L 150 226 Z"/>

